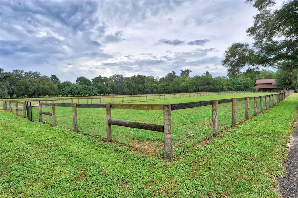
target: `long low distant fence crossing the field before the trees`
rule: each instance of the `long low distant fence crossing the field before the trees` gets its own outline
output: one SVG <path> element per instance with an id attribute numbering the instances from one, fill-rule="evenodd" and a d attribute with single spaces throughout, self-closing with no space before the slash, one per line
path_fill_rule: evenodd
<path id="1" fill-rule="evenodd" d="M 121 95 L 121 96 L 84 96 L 84 97 L 60 97 L 60 98 L 48 98 L 48 99 L 10 99 L 10 101 L 62 101 L 71 100 L 71 103 L 79 104 L 80 99 L 86 99 L 86 104 L 104 104 L 114 103 L 115 99 L 119 99 L 119 103 L 124 102 L 147 102 L 154 100 L 166 100 L 175 98 L 188 98 L 198 96 L 214 96 L 214 95 L 226 95 L 235 93 L 251 93 L 251 91 L 217 91 L 217 92 L 192 92 L 192 93 L 164 93 L 164 94 L 137 94 L 137 95 Z M 97 100 L 96 100 L 97 99 Z M 120 100 L 121 99 L 121 100 Z M 95 100 L 95 101 L 94 101 Z M 116 101 L 117 102 L 117 101 Z"/>

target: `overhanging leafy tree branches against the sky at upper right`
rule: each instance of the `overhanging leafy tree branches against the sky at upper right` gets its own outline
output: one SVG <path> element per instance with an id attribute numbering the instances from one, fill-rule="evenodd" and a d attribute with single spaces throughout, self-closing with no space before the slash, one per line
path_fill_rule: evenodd
<path id="1" fill-rule="evenodd" d="M 222 63 L 229 75 L 239 75 L 245 68 L 256 71 L 259 66 L 297 69 L 298 1 L 285 1 L 277 10 L 273 10 L 272 0 L 247 2 L 259 11 L 253 26 L 246 30 L 254 43 L 233 43 L 226 50 Z"/>

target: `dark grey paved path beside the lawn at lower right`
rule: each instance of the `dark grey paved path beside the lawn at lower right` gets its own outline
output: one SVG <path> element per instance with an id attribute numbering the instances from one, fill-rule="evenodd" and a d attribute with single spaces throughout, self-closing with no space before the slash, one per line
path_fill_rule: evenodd
<path id="1" fill-rule="evenodd" d="M 298 197 L 298 122 L 296 123 L 296 130 L 291 136 L 290 152 L 288 159 L 284 161 L 286 173 L 277 181 L 280 186 L 280 195 L 283 198 L 297 198 Z"/>

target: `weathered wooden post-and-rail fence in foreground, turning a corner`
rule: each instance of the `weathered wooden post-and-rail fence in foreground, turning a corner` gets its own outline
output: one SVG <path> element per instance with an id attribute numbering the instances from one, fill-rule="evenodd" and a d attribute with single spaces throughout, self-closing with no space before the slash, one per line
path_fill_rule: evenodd
<path id="1" fill-rule="evenodd" d="M 106 112 L 106 136 L 107 142 L 112 141 L 112 128 L 111 125 L 118 125 L 124 127 L 131 127 L 143 130 L 151 130 L 164 133 L 164 158 L 170 159 L 173 158 L 173 146 L 172 146 L 172 130 L 171 130 L 171 111 L 179 109 L 187 109 L 194 107 L 201 107 L 212 105 L 212 134 L 213 136 L 218 135 L 218 104 L 232 102 L 232 121 L 231 124 L 236 126 L 236 102 L 237 101 L 246 101 L 245 102 L 245 119 L 249 119 L 249 100 L 254 100 L 254 116 L 257 115 L 257 103 L 258 99 L 260 100 L 260 111 L 264 112 L 271 106 L 277 104 L 278 102 L 285 99 L 290 94 L 294 93 L 293 90 L 284 91 L 281 93 L 268 94 L 265 96 L 255 96 L 255 97 L 245 97 L 245 98 L 231 98 L 231 99 L 221 99 L 221 100 L 210 100 L 210 101 L 200 101 L 200 102 L 188 102 L 188 103 L 178 103 L 178 104 L 76 104 L 76 103 L 46 103 L 46 102 L 35 102 L 38 105 L 32 105 L 32 101 L 3 101 L 3 108 L 5 111 L 12 112 L 11 103 L 15 103 L 16 113 L 19 115 L 18 111 L 24 112 L 24 117 L 27 116 L 29 120 L 32 121 L 32 107 L 39 107 L 39 121 L 43 121 L 43 115 L 52 116 L 53 126 L 56 126 L 56 116 L 55 116 L 55 107 L 72 107 L 72 117 L 73 117 L 73 129 L 75 132 L 78 131 L 77 125 L 77 108 L 103 108 Z M 265 107 L 263 100 L 265 98 Z M 7 109 L 7 103 L 9 104 L 9 109 Z M 18 104 L 23 105 L 23 109 L 18 108 Z M 43 111 L 43 106 L 51 106 L 51 112 Z M 148 123 L 139 123 L 139 122 L 130 122 L 123 120 L 111 119 L 111 109 L 137 109 L 137 110 L 160 110 L 163 111 L 164 121 L 163 125 L 158 124 L 148 124 Z M 31 115 L 30 115 L 31 112 Z"/>

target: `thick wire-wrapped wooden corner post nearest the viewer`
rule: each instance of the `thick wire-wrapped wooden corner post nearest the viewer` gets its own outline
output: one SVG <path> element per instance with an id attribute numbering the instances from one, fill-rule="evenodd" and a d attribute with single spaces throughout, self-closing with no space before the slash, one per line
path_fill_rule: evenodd
<path id="1" fill-rule="evenodd" d="M 173 158 L 171 105 L 164 105 L 164 159 Z"/>

